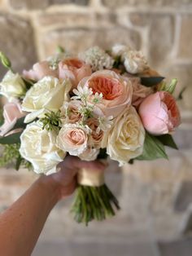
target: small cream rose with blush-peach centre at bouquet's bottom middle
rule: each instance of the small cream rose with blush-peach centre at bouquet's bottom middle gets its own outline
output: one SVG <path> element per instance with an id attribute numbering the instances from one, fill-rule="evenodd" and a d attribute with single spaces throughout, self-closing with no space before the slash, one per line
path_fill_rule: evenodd
<path id="1" fill-rule="evenodd" d="M 57 147 L 72 156 L 79 156 L 88 146 L 89 127 L 65 124 L 57 137 Z"/>

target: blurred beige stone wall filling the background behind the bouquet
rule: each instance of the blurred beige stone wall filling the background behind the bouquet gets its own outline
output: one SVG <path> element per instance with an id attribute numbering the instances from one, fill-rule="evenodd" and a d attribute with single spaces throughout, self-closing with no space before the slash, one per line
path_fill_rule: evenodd
<path id="1" fill-rule="evenodd" d="M 60 202 L 34 256 L 192 254 L 191 27 L 192 0 L 0 0 L 0 49 L 15 70 L 29 68 L 58 44 L 77 52 L 123 42 L 142 49 L 168 79 L 178 77 L 177 94 L 187 86 L 175 135 L 180 151 L 169 151 L 170 161 L 137 162 L 123 170 L 111 162 L 107 182 L 121 212 L 87 228 L 73 223 L 71 199 Z M 26 170 L 0 170 L 0 210 L 36 178 Z"/>

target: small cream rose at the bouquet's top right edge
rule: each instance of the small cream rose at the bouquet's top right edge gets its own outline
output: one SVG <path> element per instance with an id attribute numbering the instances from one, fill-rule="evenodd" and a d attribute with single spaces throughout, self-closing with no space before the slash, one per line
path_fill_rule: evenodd
<path id="1" fill-rule="evenodd" d="M 124 60 L 124 68 L 129 73 L 142 73 L 148 64 L 142 51 L 128 51 L 122 55 Z"/>

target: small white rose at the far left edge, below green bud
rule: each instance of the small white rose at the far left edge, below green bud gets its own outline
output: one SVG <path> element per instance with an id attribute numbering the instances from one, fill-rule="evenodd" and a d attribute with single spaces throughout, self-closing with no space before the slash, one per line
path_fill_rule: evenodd
<path id="1" fill-rule="evenodd" d="M 0 94 L 6 96 L 11 101 L 12 98 L 24 96 L 25 92 L 26 86 L 23 79 L 18 73 L 12 73 L 9 70 L 0 83 Z"/>

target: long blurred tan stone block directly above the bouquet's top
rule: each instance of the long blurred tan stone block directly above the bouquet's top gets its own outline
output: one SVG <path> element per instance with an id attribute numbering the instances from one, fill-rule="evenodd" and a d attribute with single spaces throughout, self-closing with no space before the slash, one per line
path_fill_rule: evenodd
<path id="1" fill-rule="evenodd" d="M 107 49 L 116 42 L 130 44 L 137 49 L 141 46 L 140 34 L 133 29 L 113 27 L 111 29 L 58 29 L 41 34 L 40 45 L 45 58 L 55 52 L 61 45 L 72 53 L 79 53 L 91 46 L 101 46 Z"/>

